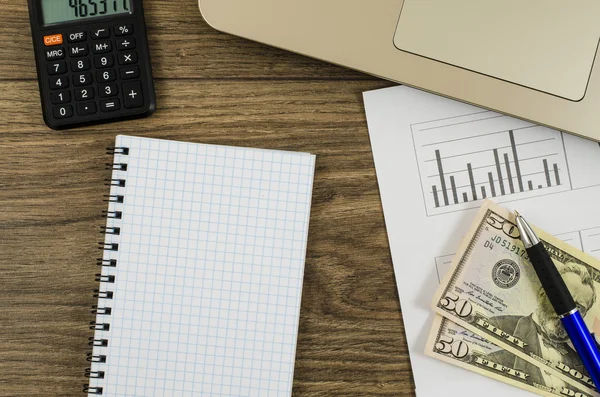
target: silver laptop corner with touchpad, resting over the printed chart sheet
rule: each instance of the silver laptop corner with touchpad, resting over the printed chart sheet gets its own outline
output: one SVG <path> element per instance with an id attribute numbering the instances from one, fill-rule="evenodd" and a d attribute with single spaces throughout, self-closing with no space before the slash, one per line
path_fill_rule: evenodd
<path id="1" fill-rule="evenodd" d="M 600 2 L 199 0 L 223 32 L 600 141 Z"/>

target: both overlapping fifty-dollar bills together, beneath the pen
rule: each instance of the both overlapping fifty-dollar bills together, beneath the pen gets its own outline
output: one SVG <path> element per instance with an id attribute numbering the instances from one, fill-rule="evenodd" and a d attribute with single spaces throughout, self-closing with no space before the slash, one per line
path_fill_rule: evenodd
<path id="1" fill-rule="evenodd" d="M 535 231 L 600 331 L 600 261 Z M 600 396 L 519 237 L 514 215 L 486 201 L 435 293 L 426 354 L 544 396 Z"/>

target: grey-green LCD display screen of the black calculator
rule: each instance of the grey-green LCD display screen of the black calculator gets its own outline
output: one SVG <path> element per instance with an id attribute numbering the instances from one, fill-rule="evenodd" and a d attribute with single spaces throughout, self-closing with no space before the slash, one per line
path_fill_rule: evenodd
<path id="1" fill-rule="evenodd" d="M 131 0 L 40 0 L 44 25 L 131 12 Z"/>

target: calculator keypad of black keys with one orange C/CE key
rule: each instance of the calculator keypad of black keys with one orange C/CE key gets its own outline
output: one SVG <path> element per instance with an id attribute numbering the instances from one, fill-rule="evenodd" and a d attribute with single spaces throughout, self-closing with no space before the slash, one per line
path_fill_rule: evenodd
<path id="1" fill-rule="evenodd" d="M 53 45 L 43 48 L 55 119 L 89 119 L 148 105 L 138 80 L 142 71 L 133 24 L 92 26 L 55 36 L 61 40 L 53 38 Z"/>

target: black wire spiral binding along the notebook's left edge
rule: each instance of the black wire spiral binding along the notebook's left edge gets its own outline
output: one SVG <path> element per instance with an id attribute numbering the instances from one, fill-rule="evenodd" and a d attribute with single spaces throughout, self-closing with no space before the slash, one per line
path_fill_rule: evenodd
<path id="1" fill-rule="evenodd" d="M 107 148 L 106 153 L 115 157 L 113 163 L 106 164 L 108 170 L 127 171 L 127 163 L 123 162 L 123 156 L 129 155 L 129 148 L 116 147 Z M 120 161 L 117 161 L 119 159 Z M 90 379 L 90 382 L 96 383 L 83 385 L 83 392 L 88 395 L 101 396 L 104 392 L 102 386 L 97 385 L 99 379 L 104 379 L 106 371 L 102 370 L 103 364 L 107 362 L 106 355 L 102 354 L 103 348 L 108 346 L 109 339 L 107 333 L 110 332 L 110 316 L 113 313 L 110 307 L 110 300 L 113 299 L 114 292 L 110 290 L 112 284 L 115 283 L 115 276 L 106 274 L 110 269 L 116 268 L 118 265 L 117 259 L 110 258 L 115 252 L 119 251 L 119 243 L 116 242 L 118 236 L 121 235 L 121 227 L 118 224 L 123 218 L 123 212 L 120 211 L 121 204 L 124 203 L 125 197 L 122 193 L 122 188 L 126 185 L 126 180 L 123 177 L 105 180 L 105 185 L 110 186 L 111 193 L 104 196 L 104 201 L 108 202 L 108 210 L 102 212 L 102 216 L 107 219 L 107 225 L 100 228 L 100 233 L 106 236 L 105 241 L 98 243 L 98 249 L 102 250 L 103 257 L 98 258 L 96 265 L 100 268 L 100 273 L 96 274 L 96 281 L 100 287 L 94 290 L 94 297 L 98 298 L 98 305 L 92 306 L 92 314 L 96 317 L 95 321 L 90 321 L 89 328 L 94 330 L 94 336 L 89 338 L 88 344 L 93 349 L 87 353 L 87 361 L 90 363 L 90 368 L 85 370 L 85 376 Z M 108 237 L 110 236 L 110 237 Z"/>

